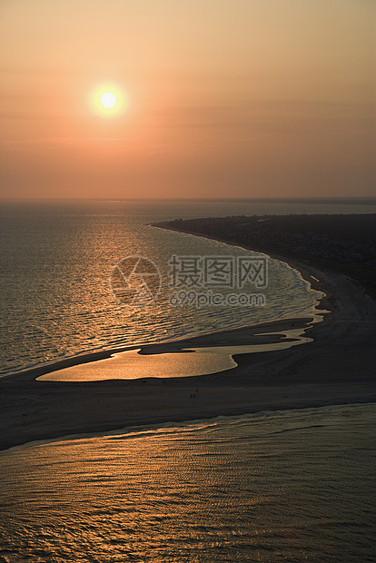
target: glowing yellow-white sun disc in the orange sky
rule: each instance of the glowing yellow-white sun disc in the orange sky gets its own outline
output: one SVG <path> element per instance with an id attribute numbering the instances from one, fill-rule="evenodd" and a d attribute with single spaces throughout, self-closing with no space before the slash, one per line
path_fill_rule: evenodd
<path id="1" fill-rule="evenodd" d="M 118 117 L 128 107 L 128 98 L 118 84 L 97 84 L 89 94 L 92 112 L 100 117 Z"/>

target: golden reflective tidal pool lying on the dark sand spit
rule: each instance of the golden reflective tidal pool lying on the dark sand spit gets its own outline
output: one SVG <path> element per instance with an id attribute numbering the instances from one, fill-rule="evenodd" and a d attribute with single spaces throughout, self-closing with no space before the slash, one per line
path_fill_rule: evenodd
<path id="1" fill-rule="evenodd" d="M 314 320 L 318 319 L 322 316 L 316 315 Z M 219 373 L 237 365 L 234 354 L 283 350 L 311 341 L 304 331 L 312 321 L 313 317 L 263 322 L 233 331 L 145 344 L 136 350 L 120 349 L 111 358 L 61 367 L 37 380 L 137 380 Z"/>

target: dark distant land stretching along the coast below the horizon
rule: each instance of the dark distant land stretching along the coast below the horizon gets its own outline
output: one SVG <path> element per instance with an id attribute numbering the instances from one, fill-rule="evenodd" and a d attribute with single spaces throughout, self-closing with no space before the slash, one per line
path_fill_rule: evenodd
<path id="1" fill-rule="evenodd" d="M 290 263 L 303 277 L 307 266 L 343 273 L 376 297 L 376 213 L 209 217 L 152 224 L 264 252 Z M 312 276 L 307 281 L 315 289 Z"/>

